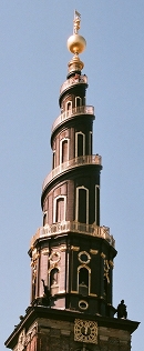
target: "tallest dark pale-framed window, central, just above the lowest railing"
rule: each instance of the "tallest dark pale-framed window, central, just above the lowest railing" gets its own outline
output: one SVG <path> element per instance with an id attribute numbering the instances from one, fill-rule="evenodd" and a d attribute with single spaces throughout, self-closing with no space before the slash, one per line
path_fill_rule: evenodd
<path id="1" fill-rule="evenodd" d="M 89 224 L 89 189 L 76 188 L 76 213 L 75 220 Z"/>

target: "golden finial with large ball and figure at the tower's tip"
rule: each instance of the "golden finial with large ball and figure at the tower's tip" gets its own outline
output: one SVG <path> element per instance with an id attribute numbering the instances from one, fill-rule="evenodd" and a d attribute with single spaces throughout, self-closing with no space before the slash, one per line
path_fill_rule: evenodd
<path id="1" fill-rule="evenodd" d="M 68 49 L 74 53 L 74 57 L 68 63 L 69 74 L 73 72 L 81 72 L 84 67 L 84 63 L 79 58 L 79 53 L 85 50 L 86 41 L 82 36 L 79 34 L 80 23 L 81 14 L 75 10 L 73 20 L 73 34 L 68 39 Z"/>

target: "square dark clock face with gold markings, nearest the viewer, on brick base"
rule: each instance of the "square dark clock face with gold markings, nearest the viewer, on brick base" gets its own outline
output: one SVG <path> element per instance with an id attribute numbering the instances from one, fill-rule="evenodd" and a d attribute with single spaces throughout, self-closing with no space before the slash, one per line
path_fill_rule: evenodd
<path id="1" fill-rule="evenodd" d="M 97 323 L 75 319 L 74 340 L 90 343 L 97 343 Z"/>

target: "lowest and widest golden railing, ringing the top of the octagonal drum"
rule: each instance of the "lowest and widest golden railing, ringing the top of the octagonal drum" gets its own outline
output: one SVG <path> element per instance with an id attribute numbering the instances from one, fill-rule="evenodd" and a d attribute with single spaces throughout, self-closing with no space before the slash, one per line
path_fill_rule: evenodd
<path id="1" fill-rule="evenodd" d="M 41 238 L 49 238 L 66 232 L 102 238 L 105 239 L 113 248 L 115 248 L 115 240 L 113 235 L 110 234 L 110 228 L 70 221 L 63 221 L 51 225 L 47 224 L 45 227 L 39 228 L 37 233 L 32 237 L 30 245 L 32 247 L 34 242 Z"/>

